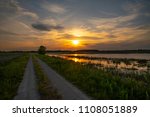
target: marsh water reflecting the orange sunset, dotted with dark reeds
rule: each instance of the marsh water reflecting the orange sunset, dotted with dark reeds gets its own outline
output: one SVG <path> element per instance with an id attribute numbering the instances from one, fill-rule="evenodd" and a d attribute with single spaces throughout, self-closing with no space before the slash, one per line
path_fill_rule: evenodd
<path id="1" fill-rule="evenodd" d="M 150 72 L 150 54 L 48 54 L 98 69 L 113 69 L 125 73 Z"/>

